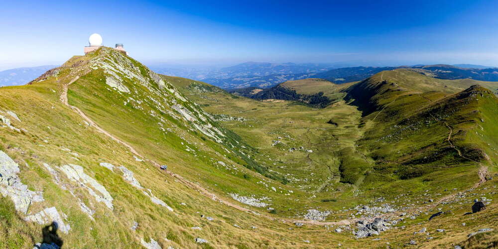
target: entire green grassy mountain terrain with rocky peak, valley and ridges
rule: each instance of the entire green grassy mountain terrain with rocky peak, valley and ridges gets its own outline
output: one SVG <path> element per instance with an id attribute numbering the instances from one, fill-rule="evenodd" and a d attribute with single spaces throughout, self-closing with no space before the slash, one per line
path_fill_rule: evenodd
<path id="1" fill-rule="evenodd" d="M 396 69 L 256 100 L 111 48 L 74 56 L 0 89 L 0 246 L 52 220 L 67 248 L 493 245 L 468 235 L 497 227 L 495 84 Z"/>

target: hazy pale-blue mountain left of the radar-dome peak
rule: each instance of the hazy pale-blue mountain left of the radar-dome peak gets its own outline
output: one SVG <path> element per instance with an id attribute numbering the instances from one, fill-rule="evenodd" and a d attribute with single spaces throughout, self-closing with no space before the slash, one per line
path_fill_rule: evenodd
<path id="1" fill-rule="evenodd" d="M 24 85 L 54 67 L 57 66 L 21 67 L 0 71 L 0 86 Z"/>

